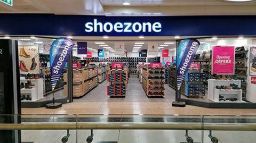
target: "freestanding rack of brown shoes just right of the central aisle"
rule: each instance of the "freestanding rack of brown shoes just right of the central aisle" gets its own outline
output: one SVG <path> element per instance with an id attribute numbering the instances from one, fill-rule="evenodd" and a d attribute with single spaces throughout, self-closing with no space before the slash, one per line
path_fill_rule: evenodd
<path id="1" fill-rule="evenodd" d="M 142 68 L 142 87 L 148 97 L 164 97 L 164 68 Z"/>

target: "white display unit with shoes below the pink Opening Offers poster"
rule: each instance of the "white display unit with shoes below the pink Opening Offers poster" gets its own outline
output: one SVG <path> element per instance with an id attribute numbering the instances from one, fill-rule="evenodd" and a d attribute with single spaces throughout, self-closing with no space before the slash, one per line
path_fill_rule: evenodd
<path id="1" fill-rule="evenodd" d="M 213 102 L 229 103 L 238 102 L 243 103 L 241 80 L 223 80 L 223 79 L 209 79 L 208 98 Z M 236 88 L 230 87 L 235 85 Z M 218 88 L 219 87 L 219 88 Z M 233 99 L 233 100 L 232 100 Z"/>

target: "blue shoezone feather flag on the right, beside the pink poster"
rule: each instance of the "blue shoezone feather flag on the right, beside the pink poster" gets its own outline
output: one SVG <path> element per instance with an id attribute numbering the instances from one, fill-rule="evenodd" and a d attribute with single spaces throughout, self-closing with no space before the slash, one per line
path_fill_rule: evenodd
<path id="1" fill-rule="evenodd" d="M 177 85 L 178 90 L 188 72 L 191 62 L 194 60 L 197 49 L 200 43 L 197 39 L 188 38 L 181 41 L 178 47 L 177 57 L 177 68 L 178 68 L 178 79 Z"/>

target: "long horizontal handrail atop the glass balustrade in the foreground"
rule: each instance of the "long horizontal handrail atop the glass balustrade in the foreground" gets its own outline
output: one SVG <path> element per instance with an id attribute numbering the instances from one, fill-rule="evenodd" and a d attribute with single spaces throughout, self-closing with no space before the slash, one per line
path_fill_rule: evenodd
<path id="1" fill-rule="evenodd" d="M 71 122 L 71 123 L 1 123 L 0 130 L 228 130 L 256 131 L 254 123 L 127 123 L 127 122 Z"/>

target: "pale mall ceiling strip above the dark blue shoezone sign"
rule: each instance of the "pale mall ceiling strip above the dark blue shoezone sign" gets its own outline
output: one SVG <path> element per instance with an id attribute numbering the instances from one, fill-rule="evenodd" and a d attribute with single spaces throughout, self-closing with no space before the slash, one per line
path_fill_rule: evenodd
<path id="1" fill-rule="evenodd" d="M 124 6 L 124 2 L 131 5 Z M 75 15 L 255 15 L 256 2 L 221 0 L 13 0 L 0 3 L 0 13 L 52 13 Z"/>

